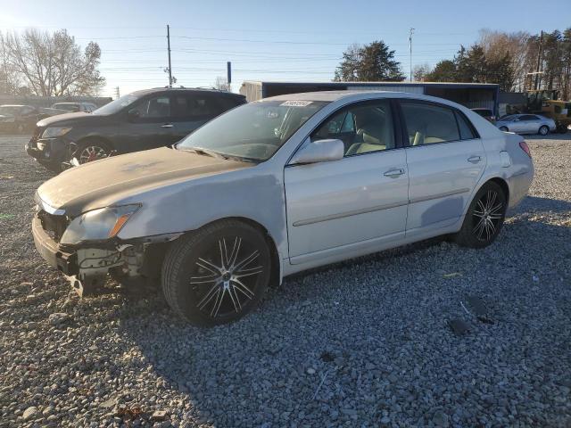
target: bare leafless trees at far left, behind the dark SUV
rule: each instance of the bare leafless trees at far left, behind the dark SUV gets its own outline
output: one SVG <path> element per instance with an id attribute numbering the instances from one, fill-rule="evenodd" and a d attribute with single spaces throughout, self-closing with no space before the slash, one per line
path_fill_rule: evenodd
<path id="1" fill-rule="evenodd" d="M 7 34 L 4 46 L 12 70 L 36 95 L 96 95 L 104 84 L 99 45 L 90 42 L 82 53 L 65 29 Z"/>

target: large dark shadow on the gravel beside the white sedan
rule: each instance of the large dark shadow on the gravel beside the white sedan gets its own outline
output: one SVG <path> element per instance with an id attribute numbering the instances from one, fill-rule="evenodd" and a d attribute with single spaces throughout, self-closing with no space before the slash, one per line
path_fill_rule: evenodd
<path id="1" fill-rule="evenodd" d="M 569 212 L 528 197 L 483 250 L 436 239 L 289 277 L 232 325 L 194 328 L 135 301 L 121 334 L 217 426 L 556 424 L 553 389 L 571 380 L 570 333 L 554 327 L 571 318 L 571 227 L 534 214 Z M 459 338 L 447 321 L 468 294 L 497 322 Z"/>

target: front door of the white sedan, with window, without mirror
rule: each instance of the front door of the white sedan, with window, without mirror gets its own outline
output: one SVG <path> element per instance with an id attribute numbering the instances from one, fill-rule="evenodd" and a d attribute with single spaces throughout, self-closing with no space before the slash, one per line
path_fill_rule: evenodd
<path id="1" fill-rule="evenodd" d="M 409 177 L 391 102 L 355 103 L 334 113 L 310 136 L 324 138 L 343 140 L 341 161 L 285 168 L 293 264 L 404 235 Z"/>

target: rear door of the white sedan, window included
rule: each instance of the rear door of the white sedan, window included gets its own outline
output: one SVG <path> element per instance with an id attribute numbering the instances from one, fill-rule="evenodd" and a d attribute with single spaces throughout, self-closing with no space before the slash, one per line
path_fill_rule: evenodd
<path id="1" fill-rule="evenodd" d="M 484 145 L 456 109 L 418 100 L 400 105 L 409 141 L 407 235 L 451 225 L 484 172 Z"/>

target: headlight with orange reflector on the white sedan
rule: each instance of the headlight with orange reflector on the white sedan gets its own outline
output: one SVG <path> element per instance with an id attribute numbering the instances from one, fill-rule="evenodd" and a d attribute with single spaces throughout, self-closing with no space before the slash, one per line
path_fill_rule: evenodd
<path id="1" fill-rule="evenodd" d="M 73 244 L 112 238 L 119 234 L 139 207 L 140 205 L 123 205 L 87 211 L 71 221 L 60 243 Z"/>

